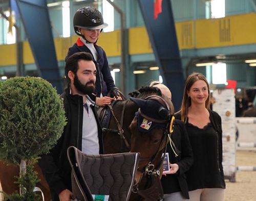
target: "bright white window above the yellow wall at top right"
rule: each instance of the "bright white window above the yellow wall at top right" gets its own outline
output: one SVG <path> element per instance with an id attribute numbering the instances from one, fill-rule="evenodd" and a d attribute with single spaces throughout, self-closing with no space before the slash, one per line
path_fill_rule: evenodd
<path id="1" fill-rule="evenodd" d="M 225 17 L 225 0 L 211 0 L 205 3 L 206 19 Z"/>

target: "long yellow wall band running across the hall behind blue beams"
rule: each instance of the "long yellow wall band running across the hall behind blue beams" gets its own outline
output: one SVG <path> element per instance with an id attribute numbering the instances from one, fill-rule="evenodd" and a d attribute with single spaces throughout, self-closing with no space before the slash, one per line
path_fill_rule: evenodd
<path id="1" fill-rule="evenodd" d="M 176 22 L 179 49 L 212 48 L 256 43 L 256 13 L 232 15 L 219 19 L 200 19 Z M 68 48 L 79 36 L 55 38 L 54 44 L 58 61 L 65 60 Z M 145 27 L 128 30 L 130 55 L 153 53 Z M 120 30 L 101 33 L 98 45 L 108 57 L 121 55 Z M 28 41 L 23 42 L 24 64 L 35 63 Z M 0 45 L 0 66 L 16 64 L 16 45 Z"/>

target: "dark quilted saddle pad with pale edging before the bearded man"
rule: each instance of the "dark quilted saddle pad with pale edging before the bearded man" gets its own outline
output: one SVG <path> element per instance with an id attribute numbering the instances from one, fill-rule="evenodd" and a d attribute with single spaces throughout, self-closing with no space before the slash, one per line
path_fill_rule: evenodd
<path id="1" fill-rule="evenodd" d="M 105 195 L 109 201 L 129 200 L 139 158 L 139 153 L 87 155 L 70 146 L 73 198 L 93 201 Z"/>

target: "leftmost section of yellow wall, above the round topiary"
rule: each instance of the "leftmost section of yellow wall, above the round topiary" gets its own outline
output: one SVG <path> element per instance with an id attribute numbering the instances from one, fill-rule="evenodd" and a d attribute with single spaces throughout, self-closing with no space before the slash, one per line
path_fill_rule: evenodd
<path id="1" fill-rule="evenodd" d="M 0 66 L 16 64 L 16 44 L 0 45 Z"/>

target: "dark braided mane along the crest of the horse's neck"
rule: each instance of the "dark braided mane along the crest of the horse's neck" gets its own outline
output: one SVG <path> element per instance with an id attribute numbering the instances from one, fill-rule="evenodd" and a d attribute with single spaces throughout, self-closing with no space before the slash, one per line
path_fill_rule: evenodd
<path id="1" fill-rule="evenodd" d="M 161 90 L 157 87 L 149 87 L 149 86 L 142 86 L 138 90 L 130 92 L 129 95 L 135 98 L 145 98 L 149 95 L 159 95 L 162 96 Z"/>

